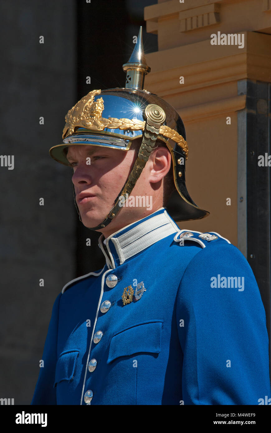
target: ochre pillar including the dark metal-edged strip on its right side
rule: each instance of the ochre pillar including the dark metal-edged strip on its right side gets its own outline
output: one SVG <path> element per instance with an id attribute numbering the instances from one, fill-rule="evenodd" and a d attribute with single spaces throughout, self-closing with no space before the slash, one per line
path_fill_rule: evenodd
<path id="1" fill-rule="evenodd" d="M 187 189 L 210 211 L 179 226 L 217 232 L 242 251 L 270 339 L 271 0 L 158 0 L 145 21 L 158 35 L 145 89 L 184 121 Z"/>

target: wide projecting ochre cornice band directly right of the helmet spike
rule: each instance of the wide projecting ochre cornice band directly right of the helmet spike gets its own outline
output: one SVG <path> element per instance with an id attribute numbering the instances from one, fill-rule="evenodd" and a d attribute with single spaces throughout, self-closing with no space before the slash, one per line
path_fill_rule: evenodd
<path id="1" fill-rule="evenodd" d="M 255 32 L 244 35 L 242 49 L 210 45 L 207 40 L 147 54 L 152 72 L 145 79 L 145 88 L 166 98 L 245 78 L 271 82 L 271 36 Z M 184 84 L 180 84 L 180 76 Z"/>

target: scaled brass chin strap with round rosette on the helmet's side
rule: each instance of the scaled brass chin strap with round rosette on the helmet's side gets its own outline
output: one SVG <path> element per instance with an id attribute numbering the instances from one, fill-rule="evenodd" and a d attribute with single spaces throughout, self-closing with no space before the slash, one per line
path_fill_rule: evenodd
<path id="1" fill-rule="evenodd" d="M 146 162 L 148 161 L 148 158 L 150 157 L 150 154 L 152 150 L 155 147 L 155 142 L 157 140 L 159 130 L 161 125 L 165 122 L 165 111 L 155 104 L 149 104 L 145 108 L 145 110 L 142 113 L 143 118 L 145 121 L 145 129 L 144 129 L 144 135 L 142 138 L 142 143 L 139 149 L 138 157 L 136 159 L 136 162 L 132 168 L 131 173 L 129 174 L 129 178 L 126 181 L 126 184 L 124 185 L 121 193 L 116 197 L 115 204 L 110 210 L 110 212 L 106 215 L 106 218 L 103 220 L 102 223 L 100 223 L 96 227 L 88 227 L 90 230 L 99 230 L 103 227 L 107 226 L 111 223 L 113 218 L 116 216 L 116 214 L 119 212 L 119 210 L 123 207 L 123 202 L 125 203 L 126 200 L 129 197 L 129 194 L 131 194 L 132 189 L 136 185 L 136 181 L 138 180 L 140 174 L 142 173 L 143 168 L 146 165 Z M 74 191 L 74 188 L 73 188 Z M 81 215 L 79 212 L 79 209 L 77 207 L 77 203 L 75 200 L 75 194 L 74 194 L 74 203 L 75 207 L 77 209 L 77 212 L 79 213 L 79 219 L 81 220 Z"/>

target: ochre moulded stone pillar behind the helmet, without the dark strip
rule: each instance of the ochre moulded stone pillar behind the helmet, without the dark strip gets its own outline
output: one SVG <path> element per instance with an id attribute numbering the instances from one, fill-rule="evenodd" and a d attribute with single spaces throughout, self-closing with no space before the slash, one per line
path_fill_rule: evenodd
<path id="1" fill-rule="evenodd" d="M 246 255 L 245 233 L 238 233 L 245 224 L 239 203 L 246 206 L 238 182 L 238 113 L 246 107 L 239 87 L 242 80 L 271 82 L 271 0 L 164 0 L 144 12 L 147 32 L 158 34 L 158 52 L 146 55 L 145 88 L 184 121 L 187 189 L 210 211 L 181 228 L 216 231 Z M 212 45 L 218 32 L 237 43 Z"/>

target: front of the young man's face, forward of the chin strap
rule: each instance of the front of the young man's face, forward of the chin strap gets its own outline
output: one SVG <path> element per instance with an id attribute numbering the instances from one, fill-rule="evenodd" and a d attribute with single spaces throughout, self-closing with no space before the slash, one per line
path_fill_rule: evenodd
<path id="1" fill-rule="evenodd" d="M 87 165 L 89 157 L 90 165 Z M 67 159 L 74 167 L 72 181 L 82 223 L 95 227 L 104 220 L 117 195 L 120 195 L 136 161 L 136 154 L 132 150 L 126 152 L 102 146 L 74 145 L 68 147 Z M 119 211 L 121 218 L 116 216 L 123 226 L 128 224 L 123 215 L 125 210 L 132 211 L 131 208 L 123 208 Z M 114 220 L 110 223 L 112 233 L 118 229 Z M 106 232 L 106 228 L 101 231 Z"/>

